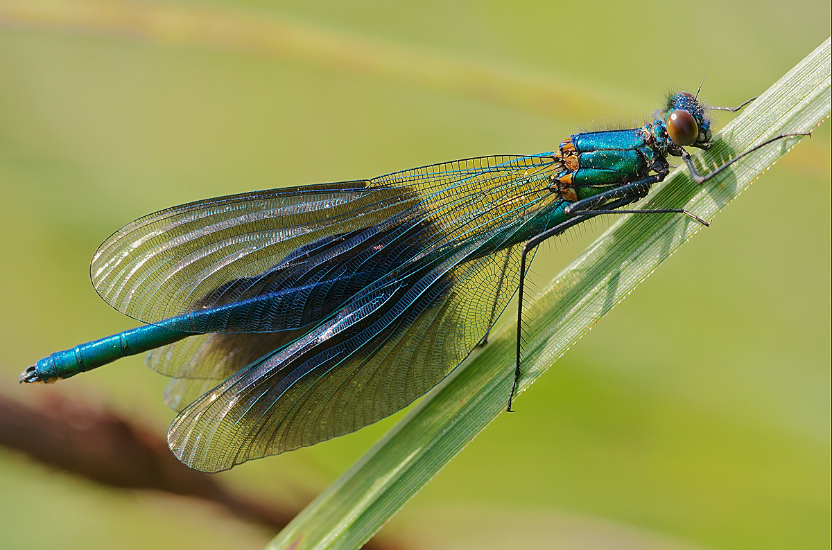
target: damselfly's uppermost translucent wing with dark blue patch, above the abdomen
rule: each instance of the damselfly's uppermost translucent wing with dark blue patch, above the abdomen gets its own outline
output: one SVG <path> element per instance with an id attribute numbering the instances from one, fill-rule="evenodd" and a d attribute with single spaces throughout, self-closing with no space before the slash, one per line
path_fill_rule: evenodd
<path id="1" fill-rule="evenodd" d="M 119 311 L 177 330 L 310 327 L 410 258 L 534 209 L 557 168 L 551 154 L 483 157 L 185 204 L 114 233 L 92 281 Z"/>

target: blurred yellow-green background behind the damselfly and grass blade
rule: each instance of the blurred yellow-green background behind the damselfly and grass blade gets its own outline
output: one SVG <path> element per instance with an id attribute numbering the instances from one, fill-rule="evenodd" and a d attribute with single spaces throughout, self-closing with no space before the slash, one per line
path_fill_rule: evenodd
<path id="1" fill-rule="evenodd" d="M 0 2 L 0 392 L 60 392 L 164 434 L 166 381 L 139 357 L 17 385 L 49 352 L 134 326 L 88 266 L 143 214 L 552 150 L 640 125 L 703 77 L 701 96 L 735 105 L 829 34 L 829 2 Z M 539 285 L 604 227 L 543 246 Z M 517 406 L 383 533 L 412 548 L 829 548 L 828 122 Z M 300 505 L 394 420 L 219 477 Z M 6 449 L 0 494 L 3 548 L 270 538 Z"/>

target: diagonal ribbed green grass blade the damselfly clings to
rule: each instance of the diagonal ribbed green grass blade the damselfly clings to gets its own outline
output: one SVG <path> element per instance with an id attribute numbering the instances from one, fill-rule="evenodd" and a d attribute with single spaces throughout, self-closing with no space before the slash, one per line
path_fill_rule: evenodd
<path id="1" fill-rule="evenodd" d="M 827 40 L 746 107 L 721 131 L 716 146 L 696 155 L 696 161 L 705 172 L 774 135 L 813 130 L 829 115 Z M 641 208 L 684 205 L 703 219 L 713 219 L 797 141 L 788 138 L 758 150 L 701 187 L 685 168 L 677 169 L 642 201 Z M 622 217 L 533 302 L 527 297 L 521 388 L 546 371 L 700 228 L 678 214 Z M 367 541 L 505 409 L 514 346 L 509 323 L 310 503 L 269 548 L 358 548 Z"/>

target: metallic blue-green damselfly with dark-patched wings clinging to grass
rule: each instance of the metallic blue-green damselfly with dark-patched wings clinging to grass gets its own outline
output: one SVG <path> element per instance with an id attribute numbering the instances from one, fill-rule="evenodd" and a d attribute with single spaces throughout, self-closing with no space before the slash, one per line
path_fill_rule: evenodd
<path id="1" fill-rule="evenodd" d="M 745 105 L 745 104 L 743 104 Z M 721 110 L 739 110 L 742 106 Z M 714 109 L 713 107 L 711 109 Z M 803 135 L 803 134 L 790 134 Z M 681 156 L 711 146 L 686 92 L 631 130 L 572 135 L 557 151 L 488 156 L 374 179 L 206 199 L 127 224 L 98 248 L 92 282 L 148 323 L 37 361 L 54 381 L 151 351 L 180 411 L 171 450 L 205 471 L 343 435 L 393 414 L 458 366 L 515 293 L 528 254 L 625 209 Z"/>

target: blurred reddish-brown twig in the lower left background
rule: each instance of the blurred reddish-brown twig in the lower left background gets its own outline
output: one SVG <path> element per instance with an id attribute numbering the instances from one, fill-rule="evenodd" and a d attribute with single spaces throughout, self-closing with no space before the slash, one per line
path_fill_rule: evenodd
<path id="1" fill-rule="evenodd" d="M 98 484 L 150 489 L 220 504 L 237 517 L 276 531 L 297 509 L 281 508 L 231 492 L 210 474 L 177 460 L 165 440 L 116 415 L 62 395 L 26 405 L 0 394 L 0 444 Z M 393 550 L 398 543 L 371 540 L 364 548 Z"/>

